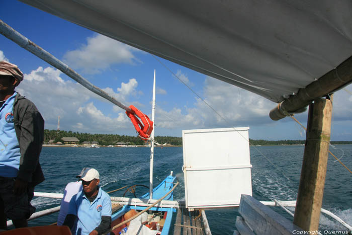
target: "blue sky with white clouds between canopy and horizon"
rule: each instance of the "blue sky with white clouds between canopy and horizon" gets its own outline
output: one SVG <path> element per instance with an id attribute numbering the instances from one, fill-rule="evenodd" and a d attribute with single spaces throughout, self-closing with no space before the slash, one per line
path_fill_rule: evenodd
<path id="1" fill-rule="evenodd" d="M 155 135 L 182 136 L 185 129 L 246 127 L 251 139 L 305 139 L 304 129 L 287 117 L 269 117 L 276 103 L 233 85 L 27 6 L 0 1 L 0 19 L 65 62 L 126 106 L 151 117 L 156 70 Z M 60 70 L 0 35 L 0 60 L 17 64 L 24 81 L 16 88 L 33 101 L 46 129 L 137 135 L 120 107 L 100 98 Z M 182 84 L 176 74 L 202 99 Z M 307 112 L 296 114 L 304 126 Z M 352 140 L 352 85 L 334 94 L 331 140 Z"/>

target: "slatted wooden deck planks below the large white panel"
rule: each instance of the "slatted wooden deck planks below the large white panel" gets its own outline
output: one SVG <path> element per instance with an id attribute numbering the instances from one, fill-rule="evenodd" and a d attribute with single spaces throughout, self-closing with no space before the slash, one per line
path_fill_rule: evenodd
<path id="1" fill-rule="evenodd" d="M 204 235 L 201 217 L 199 210 L 188 211 L 187 208 L 179 208 L 174 224 L 173 235 Z"/>

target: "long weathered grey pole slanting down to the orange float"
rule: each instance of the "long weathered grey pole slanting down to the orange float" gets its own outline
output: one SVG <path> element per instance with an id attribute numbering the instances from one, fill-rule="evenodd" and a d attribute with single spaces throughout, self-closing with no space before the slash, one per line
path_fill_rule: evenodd
<path id="1" fill-rule="evenodd" d="M 94 86 L 92 83 L 84 79 L 81 75 L 79 75 L 76 71 L 72 68 L 68 67 L 65 63 L 57 59 L 55 56 L 41 48 L 40 46 L 33 43 L 31 40 L 11 28 L 8 24 L 4 21 L 0 20 L 0 33 L 3 34 L 5 37 L 9 38 L 10 40 L 14 41 L 24 49 L 28 50 L 29 52 L 35 54 L 39 58 L 43 59 L 47 63 L 51 64 L 55 68 L 61 70 L 67 76 L 71 77 L 74 81 L 85 87 L 86 89 L 96 93 L 97 95 L 107 99 L 108 101 L 112 102 L 113 104 L 119 106 L 120 108 L 134 113 L 129 107 L 125 106 L 121 102 L 117 101 L 114 97 L 110 96 L 108 93 L 104 92 L 102 89 Z"/>

